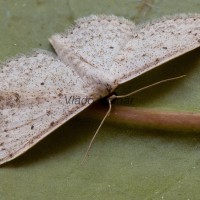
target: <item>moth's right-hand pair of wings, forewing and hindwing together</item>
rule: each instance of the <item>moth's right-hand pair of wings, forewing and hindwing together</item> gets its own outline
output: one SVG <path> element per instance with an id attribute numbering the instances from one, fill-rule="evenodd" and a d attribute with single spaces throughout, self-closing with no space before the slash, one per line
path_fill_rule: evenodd
<path id="1" fill-rule="evenodd" d="M 89 16 L 50 42 L 81 76 L 121 84 L 199 47 L 200 15 L 170 16 L 139 26 L 121 17 Z"/>

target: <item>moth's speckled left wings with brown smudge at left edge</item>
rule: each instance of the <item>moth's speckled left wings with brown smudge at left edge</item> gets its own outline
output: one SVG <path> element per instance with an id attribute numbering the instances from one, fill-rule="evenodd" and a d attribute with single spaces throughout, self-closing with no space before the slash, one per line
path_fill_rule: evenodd
<path id="1" fill-rule="evenodd" d="M 69 102 L 70 96 L 94 100 L 92 88 L 50 53 L 35 51 L 6 61 L 0 73 L 0 164 L 89 106 Z"/>

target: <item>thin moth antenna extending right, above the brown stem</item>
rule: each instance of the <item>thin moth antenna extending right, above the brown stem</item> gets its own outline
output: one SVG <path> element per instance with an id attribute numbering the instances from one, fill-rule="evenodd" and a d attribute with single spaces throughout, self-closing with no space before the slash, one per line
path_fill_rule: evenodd
<path id="1" fill-rule="evenodd" d="M 146 89 L 148 89 L 148 88 L 150 88 L 150 87 L 154 87 L 154 86 L 156 86 L 156 85 L 159 85 L 159 84 L 161 84 L 161 83 L 165 83 L 165 82 L 168 82 L 168 81 L 177 80 L 177 79 L 183 78 L 183 77 L 185 77 L 185 76 L 186 76 L 186 75 L 182 75 L 182 76 L 177 76 L 177 77 L 174 77 L 174 78 L 164 79 L 164 80 L 155 82 L 155 83 L 153 83 L 153 84 L 151 84 L 151 85 L 147 85 L 147 86 L 145 86 L 145 87 L 142 87 L 142 88 L 140 88 L 140 89 L 138 89 L 138 90 L 135 90 L 135 91 L 133 91 L 133 92 L 131 92 L 131 93 L 128 93 L 128 94 L 125 94 L 125 95 L 115 96 L 115 98 L 116 98 L 116 99 L 120 99 L 120 98 L 128 97 L 128 96 L 131 96 L 131 95 L 136 94 L 136 93 L 138 93 L 138 92 L 141 92 L 141 91 L 143 91 L 143 90 L 146 90 Z"/>

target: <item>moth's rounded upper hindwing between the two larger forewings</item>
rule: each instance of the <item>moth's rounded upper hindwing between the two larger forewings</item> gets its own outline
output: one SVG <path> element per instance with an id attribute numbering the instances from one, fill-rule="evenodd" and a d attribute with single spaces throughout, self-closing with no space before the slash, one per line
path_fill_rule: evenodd
<path id="1" fill-rule="evenodd" d="M 60 59 L 82 76 L 100 81 L 113 81 L 113 59 L 132 37 L 135 25 L 122 17 L 89 16 L 77 20 L 65 33 L 53 35 L 49 41 Z M 81 64 L 80 64 L 81 63 Z M 116 67 L 116 66 L 115 66 Z M 91 70 L 92 68 L 92 70 Z"/>

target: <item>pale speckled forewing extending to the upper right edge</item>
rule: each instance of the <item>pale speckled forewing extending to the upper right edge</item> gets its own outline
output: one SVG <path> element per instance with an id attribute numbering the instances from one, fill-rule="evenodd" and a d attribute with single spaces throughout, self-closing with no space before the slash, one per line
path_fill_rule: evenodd
<path id="1" fill-rule="evenodd" d="M 138 26 L 112 67 L 122 84 L 198 47 L 199 14 L 166 17 Z"/>

